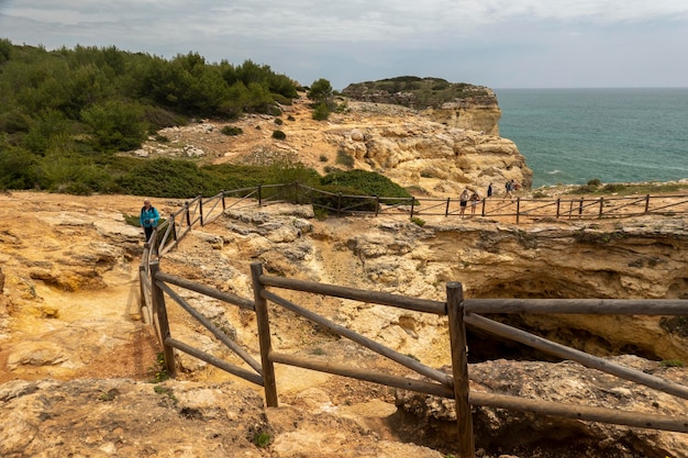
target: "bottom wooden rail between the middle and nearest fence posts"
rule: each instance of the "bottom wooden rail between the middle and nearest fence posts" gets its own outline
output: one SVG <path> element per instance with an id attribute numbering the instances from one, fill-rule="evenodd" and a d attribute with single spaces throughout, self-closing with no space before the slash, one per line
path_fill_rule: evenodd
<path id="1" fill-rule="evenodd" d="M 321 372 L 334 373 L 337 376 L 380 383 L 388 387 L 401 388 L 404 390 L 419 391 L 421 393 L 434 394 L 442 398 L 454 398 L 454 391 L 452 388 L 439 383 L 407 379 L 404 377 L 388 376 L 385 373 L 371 372 L 365 369 L 353 368 L 351 365 L 339 365 L 330 361 L 315 360 L 314 358 L 303 358 L 276 351 L 270 351 L 268 357 L 273 362 L 281 362 L 303 369 L 319 370 Z"/>

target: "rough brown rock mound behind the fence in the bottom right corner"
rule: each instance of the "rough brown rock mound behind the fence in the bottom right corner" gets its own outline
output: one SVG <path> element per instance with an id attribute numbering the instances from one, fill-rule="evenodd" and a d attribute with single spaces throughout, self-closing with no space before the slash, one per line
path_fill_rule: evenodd
<path id="1" fill-rule="evenodd" d="M 610 362 L 687 384 L 688 373 L 662 367 L 633 356 Z M 559 364 L 496 360 L 470 365 L 470 390 L 509 394 L 529 400 L 551 401 L 626 412 L 685 417 L 686 400 L 665 394 L 613 376 L 572 362 Z M 397 390 L 396 403 L 415 418 L 413 429 L 431 447 L 456 440 L 454 402 L 432 395 Z M 555 416 L 475 407 L 474 434 L 477 446 L 489 455 L 504 450 L 523 457 L 574 454 L 588 457 L 645 458 L 688 457 L 688 442 L 681 433 L 628 428 Z"/>

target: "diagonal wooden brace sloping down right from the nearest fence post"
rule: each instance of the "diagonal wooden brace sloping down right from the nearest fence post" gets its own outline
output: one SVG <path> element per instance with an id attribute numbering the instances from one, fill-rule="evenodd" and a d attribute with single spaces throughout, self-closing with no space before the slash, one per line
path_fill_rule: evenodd
<path id="1" fill-rule="evenodd" d="M 601 370 L 602 372 L 607 372 L 612 376 L 633 381 L 635 383 L 641 383 L 645 387 L 650 387 L 668 394 L 673 394 L 683 399 L 688 399 L 688 387 L 684 387 L 683 384 L 674 383 L 672 381 L 663 380 L 658 377 L 650 376 L 639 370 L 615 365 L 606 359 L 598 358 L 597 356 L 588 355 L 587 353 L 569 348 L 565 345 L 547 340 L 545 338 L 539 337 L 521 329 L 517 329 L 515 327 L 511 327 L 506 324 L 488 320 L 484 316 L 476 315 L 475 313 L 467 313 L 466 316 L 464 316 L 464 321 L 470 326 L 487 331 L 500 337 L 504 337 L 514 342 L 520 342 L 521 344 L 536 348 L 546 354 L 558 356 L 563 359 L 570 359 L 573 361 L 580 362 L 586 367 Z"/>

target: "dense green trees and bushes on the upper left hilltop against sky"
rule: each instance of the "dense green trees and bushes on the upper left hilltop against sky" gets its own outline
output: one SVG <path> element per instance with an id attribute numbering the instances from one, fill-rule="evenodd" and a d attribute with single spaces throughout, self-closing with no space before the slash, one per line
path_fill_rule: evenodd
<path id="1" fill-rule="evenodd" d="M 296 85 L 249 60 L 210 64 L 198 53 L 164 59 L 111 47 L 15 46 L 0 40 L 0 135 L 36 155 L 137 148 L 188 116 L 279 114 Z"/>

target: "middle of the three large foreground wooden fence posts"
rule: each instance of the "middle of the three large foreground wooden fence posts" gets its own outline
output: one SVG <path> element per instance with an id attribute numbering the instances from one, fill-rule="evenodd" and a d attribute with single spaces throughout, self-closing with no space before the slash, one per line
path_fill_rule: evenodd
<path id="1" fill-rule="evenodd" d="M 265 402 L 268 407 L 277 407 L 277 384 L 275 381 L 275 366 L 270 360 L 273 344 L 270 342 L 270 323 L 267 313 L 267 301 L 260 295 L 263 284 L 260 276 L 263 265 L 251 264 L 251 278 L 253 280 L 253 295 L 256 304 L 256 322 L 258 325 L 258 342 L 260 343 L 260 362 L 263 364 L 263 388 L 265 389 Z"/>

